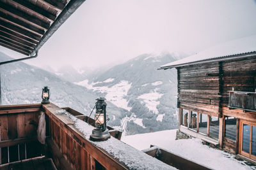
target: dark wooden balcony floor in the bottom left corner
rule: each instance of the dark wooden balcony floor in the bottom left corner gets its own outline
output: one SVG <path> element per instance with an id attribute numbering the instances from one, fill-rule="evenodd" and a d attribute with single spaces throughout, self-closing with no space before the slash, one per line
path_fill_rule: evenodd
<path id="1" fill-rule="evenodd" d="M 20 160 L 17 162 L 12 162 L 8 164 L 0 165 L 0 170 L 27 170 L 27 169 L 36 169 L 36 170 L 56 170 L 52 159 L 45 157 L 36 157 L 33 159 Z"/>

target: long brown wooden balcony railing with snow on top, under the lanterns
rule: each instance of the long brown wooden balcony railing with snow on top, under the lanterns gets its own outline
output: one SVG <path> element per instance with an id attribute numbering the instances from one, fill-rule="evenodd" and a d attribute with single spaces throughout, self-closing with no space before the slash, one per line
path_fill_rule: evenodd
<path id="1" fill-rule="evenodd" d="M 108 141 L 90 141 L 94 127 L 86 118 L 93 120 L 71 108 L 65 108 L 63 114 L 58 110 L 61 108 L 52 103 L 0 106 L 0 169 L 12 169 L 30 158 L 35 159 L 33 163 L 39 162 L 38 158 L 50 159 L 57 169 L 173 169 L 116 139 L 120 132 L 111 127 Z M 42 113 L 45 145 L 38 142 L 36 134 Z"/>

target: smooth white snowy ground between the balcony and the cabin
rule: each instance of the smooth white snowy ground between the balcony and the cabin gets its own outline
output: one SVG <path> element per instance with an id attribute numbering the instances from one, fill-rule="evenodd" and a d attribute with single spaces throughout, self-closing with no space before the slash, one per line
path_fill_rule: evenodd
<path id="1" fill-rule="evenodd" d="M 150 145 L 156 145 L 165 150 L 180 155 L 211 169 L 253 169 L 247 166 L 244 161 L 234 159 L 234 155 L 218 149 L 202 145 L 200 139 L 179 139 L 175 140 L 177 129 L 168 131 L 152 132 L 147 134 L 136 134 L 122 136 L 121 141 L 138 150 L 144 150 Z"/>

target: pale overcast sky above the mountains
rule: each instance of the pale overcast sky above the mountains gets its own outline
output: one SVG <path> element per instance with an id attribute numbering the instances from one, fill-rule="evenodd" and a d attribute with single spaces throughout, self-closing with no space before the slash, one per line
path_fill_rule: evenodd
<path id="1" fill-rule="evenodd" d="M 142 53 L 196 53 L 252 34 L 253 0 L 87 0 L 27 63 L 100 67 Z"/>

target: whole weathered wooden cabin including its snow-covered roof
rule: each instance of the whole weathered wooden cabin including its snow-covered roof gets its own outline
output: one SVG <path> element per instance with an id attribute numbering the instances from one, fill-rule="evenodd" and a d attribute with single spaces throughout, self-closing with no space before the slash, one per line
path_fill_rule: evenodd
<path id="1" fill-rule="evenodd" d="M 256 36 L 161 66 L 177 69 L 179 131 L 256 161 Z"/>

